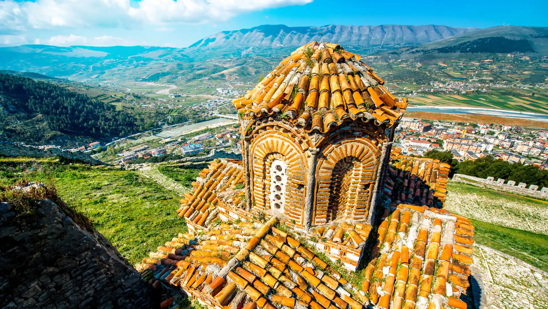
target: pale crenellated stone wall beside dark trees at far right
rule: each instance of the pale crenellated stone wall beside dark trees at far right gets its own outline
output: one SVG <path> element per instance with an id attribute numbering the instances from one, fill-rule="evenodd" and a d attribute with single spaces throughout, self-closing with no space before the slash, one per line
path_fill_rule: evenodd
<path id="1" fill-rule="evenodd" d="M 517 194 L 522 194 L 524 196 L 530 196 L 535 198 L 548 199 L 548 188 L 542 187 L 540 188 L 540 190 L 538 190 L 539 188 L 538 186 L 529 185 L 529 187 L 527 187 L 527 184 L 524 184 L 523 182 L 520 182 L 518 185 L 516 185 L 515 181 L 509 180 L 505 184 L 504 183 L 505 180 L 501 178 L 495 181 L 493 177 L 488 177 L 487 179 L 483 179 L 483 178 L 478 178 L 478 177 L 463 175 L 463 174 L 453 175 L 452 180 L 455 182 L 463 182 L 465 184 L 470 184 L 470 185 L 479 186 L 479 187 L 488 187 L 498 191 L 517 193 Z"/>

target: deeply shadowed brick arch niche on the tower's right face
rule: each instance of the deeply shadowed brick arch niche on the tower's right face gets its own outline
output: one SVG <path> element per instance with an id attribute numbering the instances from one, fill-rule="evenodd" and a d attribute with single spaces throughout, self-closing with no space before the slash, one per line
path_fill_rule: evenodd
<path id="1" fill-rule="evenodd" d="M 326 137 L 320 147 L 312 224 L 367 219 L 381 164 L 381 139 L 365 128 L 341 131 Z"/>

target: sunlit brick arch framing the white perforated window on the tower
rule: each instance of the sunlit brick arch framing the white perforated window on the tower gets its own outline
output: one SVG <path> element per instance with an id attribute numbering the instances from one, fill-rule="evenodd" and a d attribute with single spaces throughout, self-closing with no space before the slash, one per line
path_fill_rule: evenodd
<path id="1" fill-rule="evenodd" d="M 279 159 L 287 164 L 283 212 L 295 220 L 296 224 L 302 225 L 308 164 L 301 145 L 306 144 L 306 141 L 295 138 L 287 128 L 273 125 L 264 126 L 254 133 L 249 148 L 253 208 L 257 211 L 271 208 L 271 166 Z"/>

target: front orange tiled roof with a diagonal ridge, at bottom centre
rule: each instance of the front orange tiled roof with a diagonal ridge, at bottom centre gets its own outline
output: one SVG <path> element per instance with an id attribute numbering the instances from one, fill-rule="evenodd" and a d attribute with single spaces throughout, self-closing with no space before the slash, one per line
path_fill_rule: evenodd
<path id="1" fill-rule="evenodd" d="M 362 308 L 366 297 L 276 221 L 223 224 L 193 245 L 166 243 L 136 267 L 212 308 Z"/>

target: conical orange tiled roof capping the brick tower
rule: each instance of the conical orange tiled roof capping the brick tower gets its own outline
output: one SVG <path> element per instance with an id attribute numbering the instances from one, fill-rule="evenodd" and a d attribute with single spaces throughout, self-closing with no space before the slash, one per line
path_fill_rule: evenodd
<path id="1" fill-rule="evenodd" d="M 282 60 L 253 90 L 233 101 L 243 118 L 281 113 L 307 132 L 325 133 L 346 120 L 390 127 L 407 99 L 397 99 L 360 56 L 338 44 L 311 42 Z"/>

